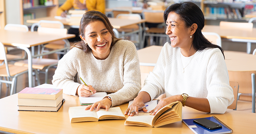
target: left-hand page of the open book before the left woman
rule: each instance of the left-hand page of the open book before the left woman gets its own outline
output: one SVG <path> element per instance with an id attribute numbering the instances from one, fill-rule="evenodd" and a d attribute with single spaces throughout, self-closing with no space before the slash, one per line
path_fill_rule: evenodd
<path id="1" fill-rule="evenodd" d="M 70 107 L 68 109 L 68 114 L 72 118 L 83 118 L 83 117 L 94 117 L 98 119 L 98 115 L 95 110 L 84 110 L 86 107 L 79 106 L 79 107 Z"/>

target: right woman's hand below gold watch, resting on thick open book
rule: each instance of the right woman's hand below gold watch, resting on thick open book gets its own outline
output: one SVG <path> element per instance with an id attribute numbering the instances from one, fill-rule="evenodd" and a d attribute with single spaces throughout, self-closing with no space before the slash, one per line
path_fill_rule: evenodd
<path id="1" fill-rule="evenodd" d="M 155 115 L 156 112 L 158 110 L 160 110 L 161 108 L 163 108 L 164 106 L 179 100 L 178 97 L 180 97 L 180 96 L 181 95 L 175 95 L 175 96 L 170 96 L 170 97 L 167 97 L 167 98 L 159 100 L 159 102 L 156 105 L 156 107 L 153 110 L 149 111 L 150 115 Z"/>

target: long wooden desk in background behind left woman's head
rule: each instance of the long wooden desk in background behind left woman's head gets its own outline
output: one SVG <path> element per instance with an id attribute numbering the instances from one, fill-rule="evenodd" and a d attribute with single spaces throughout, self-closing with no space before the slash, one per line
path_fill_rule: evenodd
<path id="1" fill-rule="evenodd" d="M 145 22 L 145 20 L 129 20 L 129 19 L 117 19 L 117 18 L 108 18 L 111 25 L 114 27 L 114 29 L 120 29 L 125 26 L 133 25 L 133 24 L 139 24 Z M 27 20 L 28 23 L 38 23 L 40 20 L 48 20 L 48 21 L 60 21 L 64 25 L 80 25 L 80 19 L 74 19 L 74 20 L 59 20 L 55 19 L 54 17 L 44 17 L 44 18 L 37 18 L 33 20 Z"/>

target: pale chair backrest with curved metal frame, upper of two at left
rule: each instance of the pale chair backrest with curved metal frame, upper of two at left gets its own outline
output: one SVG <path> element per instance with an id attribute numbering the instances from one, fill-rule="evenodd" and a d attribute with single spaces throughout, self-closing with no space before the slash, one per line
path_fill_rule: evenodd
<path id="1" fill-rule="evenodd" d="M 40 20 L 38 23 L 34 23 L 34 24 L 31 26 L 31 32 L 34 32 L 35 26 L 64 29 L 64 25 L 63 25 L 63 23 L 61 23 L 60 21 Z"/>

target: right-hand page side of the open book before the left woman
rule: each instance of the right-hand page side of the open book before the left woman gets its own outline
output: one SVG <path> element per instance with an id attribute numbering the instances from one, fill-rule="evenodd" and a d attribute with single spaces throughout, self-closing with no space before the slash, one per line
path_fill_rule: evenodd
<path id="1" fill-rule="evenodd" d="M 106 109 L 100 109 L 99 111 L 97 111 L 97 115 L 100 120 L 102 120 L 102 119 L 119 119 L 118 117 L 115 118 L 115 116 L 121 116 L 121 117 L 124 117 L 121 119 L 126 119 L 125 115 L 122 113 L 120 107 L 109 108 L 108 111 L 106 111 Z"/>

